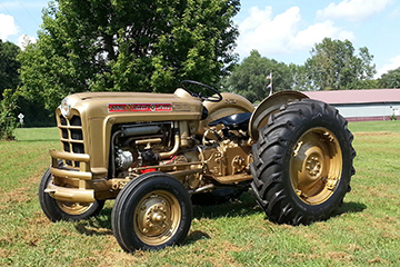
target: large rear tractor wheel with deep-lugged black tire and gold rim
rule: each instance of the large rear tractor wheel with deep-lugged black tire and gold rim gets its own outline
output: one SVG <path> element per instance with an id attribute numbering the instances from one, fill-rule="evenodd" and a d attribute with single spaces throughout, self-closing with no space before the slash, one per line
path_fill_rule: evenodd
<path id="1" fill-rule="evenodd" d="M 270 220 L 308 225 L 329 218 L 350 190 L 353 136 L 333 107 L 301 99 L 259 130 L 251 187 Z"/>

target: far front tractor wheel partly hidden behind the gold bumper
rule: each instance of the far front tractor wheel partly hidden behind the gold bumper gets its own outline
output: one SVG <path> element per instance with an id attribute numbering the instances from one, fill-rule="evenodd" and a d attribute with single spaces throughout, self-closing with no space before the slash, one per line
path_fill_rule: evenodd
<path id="1" fill-rule="evenodd" d="M 47 169 L 41 178 L 38 191 L 40 207 L 51 221 L 84 220 L 100 214 L 104 206 L 104 200 L 94 200 L 94 202 L 69 202 L 50 197 L 44 190 L 51 180 L 52 175 L 50 170 Z"/>

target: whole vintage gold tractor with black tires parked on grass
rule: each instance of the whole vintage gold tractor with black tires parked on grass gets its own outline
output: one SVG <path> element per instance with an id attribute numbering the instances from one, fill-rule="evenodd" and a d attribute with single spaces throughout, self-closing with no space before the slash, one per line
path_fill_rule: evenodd
<path id="1" fill-rule="evenodd" d="M 128 253 L 181 243 L 192 202 L 246 190 L 273 222 L 327 219 L 354 174 L 347 120 L 297 91 L 254 109 L 186 80 L 173 93 L 74 93 L 56 117 L 61 150 L 50 150 L 39 186 L 43 212 L 52 221 L 88 219 L 116 199 L 112 231 Z"/>

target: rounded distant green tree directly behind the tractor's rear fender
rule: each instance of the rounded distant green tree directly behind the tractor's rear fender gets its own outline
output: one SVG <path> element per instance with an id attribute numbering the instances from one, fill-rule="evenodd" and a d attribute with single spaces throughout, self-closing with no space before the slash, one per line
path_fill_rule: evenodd
<path id="1" fill-rule="evenodd" d="M 229 89 L 250 101 L 261 101 L 268 97 L 267 89 L 270 80 L 267 76 L 272 72 L 273 92 L 289 90 L 293 86 L 293 69 L 283 62 L 261 57 L 257 50 L 250 52 L 250 57 L 238 65 L 228 79 Z"/>

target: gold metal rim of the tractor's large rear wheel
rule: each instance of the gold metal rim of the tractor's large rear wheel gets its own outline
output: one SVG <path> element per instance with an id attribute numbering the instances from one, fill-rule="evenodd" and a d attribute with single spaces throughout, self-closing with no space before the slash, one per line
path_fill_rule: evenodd
<path id="1" fill-rule="evenodd" d="M 334 192 L 341 177 L 342 152 L 337 137 L 323 127 L 304 132 L 294 145 L 290 180 L 297 196 L 319 205 Z"/>

